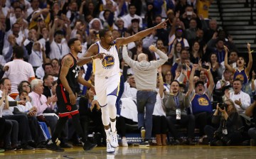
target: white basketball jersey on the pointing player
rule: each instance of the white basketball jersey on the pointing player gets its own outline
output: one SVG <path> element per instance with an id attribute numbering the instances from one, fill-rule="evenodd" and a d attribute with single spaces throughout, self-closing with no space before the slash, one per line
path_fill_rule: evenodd
<path id="1" fill-rule="evenodd" d="M 117 53 L 117 46 L 114 44 L 109 50 L 103 48 L 100 41 L 97 41 L 99 52 L 105 53 L 105 57 L 93 60 L 93 72 L 96 76 L 100 77 L 111 77 L 113 75 L 119 74 L 119 58 Z"/>

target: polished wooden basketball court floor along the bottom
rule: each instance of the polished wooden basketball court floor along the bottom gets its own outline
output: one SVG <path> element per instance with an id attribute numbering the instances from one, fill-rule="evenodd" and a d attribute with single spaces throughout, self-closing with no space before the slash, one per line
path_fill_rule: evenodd
<path id="1" fill-rule="evenodd" d="M 63 153 L 50 150 L 16 150 L 0 153 L 3 159 L 29 159 L 29 158 L 66 158 L 66 159 L 149 159 L 149 158 L 255 158 L 256 146 L 139 146 L 119 147 L 114 154 L 107 154 L 105 147 L 97 147 L 84 151 L 81 147 L 66 148 Z"/>

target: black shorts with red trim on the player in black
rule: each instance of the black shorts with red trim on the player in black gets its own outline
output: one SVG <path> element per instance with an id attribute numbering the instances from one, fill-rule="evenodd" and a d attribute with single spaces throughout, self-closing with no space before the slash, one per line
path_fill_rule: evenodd
<path id="1" fill-rule="evenodd" d="M 69 94 L 65 91 L 63 84 L 58 84 L 56 87 L 56 94 L 58 98 L 57 106 L 60 117 L 73 116 L 78 114 L 78 106 L 76 104 L 70 104 Z"/>

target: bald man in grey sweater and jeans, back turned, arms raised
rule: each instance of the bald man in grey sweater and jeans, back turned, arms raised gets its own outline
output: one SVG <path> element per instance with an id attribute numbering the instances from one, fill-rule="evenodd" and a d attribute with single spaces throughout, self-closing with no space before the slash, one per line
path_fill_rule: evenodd
<path id="1" fill-rule="evenodd" d="M 142 133 L 142 146 L 149 146 L 149 139 L 152 131 L 152 114 L 156 103 L 156 77 L 157 69 L 168 60 L 168 57 L 154 45 L 149 46 L 149 50 L 159 55 L 160 59 L 148 61 L 147 55 L 140 53 L 138 61 L 132 60 L 127 52 L 127 47 L 123 47 L 123 58 L 132 67 L 137 87 L 137 110 L 138 128 Z M 144 109 L 146 107 L 146 116 Z M 146 128 L 146 129 L 145 129 Z"/>

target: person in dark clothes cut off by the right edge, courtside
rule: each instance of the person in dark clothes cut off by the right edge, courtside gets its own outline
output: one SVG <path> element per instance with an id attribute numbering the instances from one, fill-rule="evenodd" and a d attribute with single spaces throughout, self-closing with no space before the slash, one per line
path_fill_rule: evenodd
<path id="1" fill-rule="evenodd" d="M 253 96 L 253 100 L 254 102 L 252 104 L 250 104 L 250 106 L 245 110 L 245 115 L 247 116 L 251 116 L 252 120 L 255 123 L 255 119 L 256 119 L 256 95 Z M 254 126 L 253 128 L 250 128 L 248 130 L 248 135 L 250 136 L 250 138 L 252 138 L 250 140 L 250 146 L 255 146 L 255 141 L 256 141 L 256 126 Z"/>

